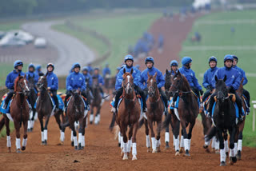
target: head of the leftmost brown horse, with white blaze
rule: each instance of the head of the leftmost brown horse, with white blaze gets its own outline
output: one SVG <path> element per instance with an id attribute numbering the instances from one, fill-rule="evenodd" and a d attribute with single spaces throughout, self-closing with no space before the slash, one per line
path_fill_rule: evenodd
<path id="1" fill-rule="evenodd" d="M 21 76 L 18 74 L 18 77 L 14 81 L 14 91 L 16 93 L 23 93 L 25 96 L 30 95 L 30 89 L 27 86 L 26 75 Z"/>

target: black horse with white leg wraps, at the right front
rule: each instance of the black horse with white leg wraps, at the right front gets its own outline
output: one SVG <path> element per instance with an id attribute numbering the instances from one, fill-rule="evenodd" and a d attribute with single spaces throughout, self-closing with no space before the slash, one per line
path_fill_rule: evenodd
<path id="1" fill-rule="evenodd" d="M 226 75 L 223 80 L 218 79 L 217 76 L 215 76 L 214 79 L 216 81 L 215 93 L 217 94 L 217 96 L 214 97 L 216 101 L 213 116 L 214 126 L 210 129 L 207 140 L 209 141 L 216 133 L 218 134 L 221 157 L 220 166 L 224 166 L 226 165 L 226 152 L 224 149 L 223 134 L 228 130 L 230 133 L 230 164 L 233 165 L 237 161 L 234 150 L 234 137 L 237 129 L 234 99 L 232 99 L 234 95 L 228 94 L 225 84 Z"/>

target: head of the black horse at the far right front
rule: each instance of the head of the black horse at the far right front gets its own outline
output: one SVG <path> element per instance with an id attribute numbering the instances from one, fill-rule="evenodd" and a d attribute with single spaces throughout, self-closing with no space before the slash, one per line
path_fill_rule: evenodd
<path id="1" fill-rule="evenodd" d="M 215 75 L 215 81 L 216 81 L 215 92 L 217 93 L 217 100 L 224 102 L 225 99 L 228 98 L 228 92 L 227 92 L 226 83 L 225 83 L 226 75 L 223 80 L 218 79 L 217 76 Z"/>

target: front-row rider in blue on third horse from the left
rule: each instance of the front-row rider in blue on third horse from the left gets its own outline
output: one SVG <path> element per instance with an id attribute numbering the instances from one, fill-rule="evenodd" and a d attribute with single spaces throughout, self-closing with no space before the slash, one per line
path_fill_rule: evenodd
<path id="1" fill-rule="evenodd" d="M 83 74 L 80 73 L 81 66 L 79 63 L 74 63 L 74 72 L 66 77 L 66 97 L 64 100 L 65 110 L 67 99 L 71 96 L 71 91 L 79 89 L 83 97 L 86 97 L 86 81 Z"/>

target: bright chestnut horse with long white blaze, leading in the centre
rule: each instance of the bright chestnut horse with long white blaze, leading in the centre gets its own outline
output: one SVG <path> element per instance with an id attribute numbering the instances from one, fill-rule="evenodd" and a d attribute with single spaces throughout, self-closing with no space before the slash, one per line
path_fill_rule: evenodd
<path id="1" fill-rule="evenodd" d="M 121 132 L 121 140 L 123 140 L 123 148 L 122 152 L 123 157 L 122 160 L 128 160 L 127 153 L 130 153 L 131 148 L 131 139 L 132 139 L 132 160 L 137 160 L 137 148 L 136 148 L 136 134 L 138 131 L 138 120 L 140 117 L 140 104 L 138 98 L 136 97 L 136 93 L 134 90 L 134 78 L 132 76 L 133 69 L 130 70 L 130 73 L 126 73 L 126 69 L 124 69 L 124 74 L 122 76 L 122 97 L 118 109 L 118 114 L 116 117 L 117 124 L 119 125 Z M 126 136 L 126 131 L 128 126 L 129 129 L 129 141 Z M 121 142 L 122 143 L 122 142 Z"/>

